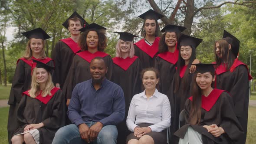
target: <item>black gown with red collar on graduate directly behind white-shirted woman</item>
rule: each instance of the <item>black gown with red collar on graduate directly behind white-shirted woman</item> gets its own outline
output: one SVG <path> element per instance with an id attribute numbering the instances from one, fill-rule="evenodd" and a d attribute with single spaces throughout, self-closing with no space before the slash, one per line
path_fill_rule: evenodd
<path id="1" fill-rule="evenodd" d="M 156 37 L 154 44 L 152 46 L 149 46 L 147 43 L 145 43 L 144 39 L 141 39 L 139 42 L 134 44 L 135 56 L 138 56 L 139 59 L 141 60 L 142 69 L 154 67 L 154 59 L 155 59 L 155 56 L 158 54 L 158 50 L 157 52 L 155 52 L 154 56 L 151 57 L 138 47 L 138 43 L 142 43 L 144 47 L 158 49 L 159 39 L 160 39 L 159 37 Z"/>

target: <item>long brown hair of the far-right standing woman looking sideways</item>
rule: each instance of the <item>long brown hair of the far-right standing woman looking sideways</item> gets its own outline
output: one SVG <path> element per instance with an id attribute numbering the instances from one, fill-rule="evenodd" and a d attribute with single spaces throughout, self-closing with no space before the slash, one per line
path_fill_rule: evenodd
<path id="1" fill-rule="evenodd" d="M 219 58 L 219 56 L 217 56 L 216 54 L 216 43 L 219 43 L 220 45 L 220 54 L 222 55 L 221 58 Z M 233 65 L 234 60 L 236 59 L 236 57 L 234 56 L 233 52 L 231 52 L 231 49 L 229 50 L 229 43 L 224 40 L 224 39 L 220 39 L 217 42 L 215 42 L 214 45 L 214 53 L 215 53 L 215 62 L 217 64 L 221 64 L 221 63 L 226 63 L 225 67 L 226 70 L 230 70 L 230 67 Z"/>

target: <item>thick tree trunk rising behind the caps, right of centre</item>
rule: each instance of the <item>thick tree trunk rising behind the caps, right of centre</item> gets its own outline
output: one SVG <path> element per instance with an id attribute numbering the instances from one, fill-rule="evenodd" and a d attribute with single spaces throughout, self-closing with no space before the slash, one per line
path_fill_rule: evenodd
<path id="1" fill-rule="evenodd" d="M 187 10 L 186 10 L 186 16 L 184 19 L 184 26 L 187 27 L 187 29 L 184 31 L 184 34 L 190 35 L 191 34 L 191 26 L 194 19 L 194 0 L 187 0 Z"/>

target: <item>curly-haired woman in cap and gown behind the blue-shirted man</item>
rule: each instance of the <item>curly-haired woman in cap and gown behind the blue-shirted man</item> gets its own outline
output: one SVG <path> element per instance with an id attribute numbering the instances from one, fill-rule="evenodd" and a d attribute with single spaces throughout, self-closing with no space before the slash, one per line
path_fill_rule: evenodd
<path id="1" fill-rule="evenodd" d="M 113 61 L 111 56 L 104 52 L 107 46 L 107 37 L 105 36 L 106 28 L 99 26 L 96 23 L 92 23 L 85 26 L 79 31 L 82 32 L 78 45 L 82 49 L 75 55 L 72 65 L 69 69 L 67 79 L 63 87 L 63 93 L 66 96 L 67 105 L 69 105 L 69 99 L 73 88 L 76 84 L 91 79 L 90 74 L 90 62 L 95 57 L 102 57 L 108 65 L 107 79 L 111 79 Z"/>

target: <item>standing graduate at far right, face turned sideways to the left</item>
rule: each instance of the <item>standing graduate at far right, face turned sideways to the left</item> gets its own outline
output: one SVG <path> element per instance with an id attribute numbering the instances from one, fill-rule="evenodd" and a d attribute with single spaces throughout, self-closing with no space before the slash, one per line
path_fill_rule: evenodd
<path id="1" fill-rule="evenodd" d="M 224 30 L 223 39 L 215 43 L 216 88 L 226 90 L 233 98 L 236 117 L 243 127 L 243 137 L 237 144 L 245 144 L 249 106 L 249 75 L 247 65 L 238 60 L 240 41 Z"/>

